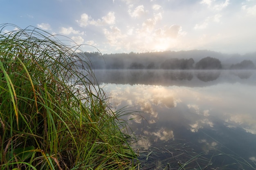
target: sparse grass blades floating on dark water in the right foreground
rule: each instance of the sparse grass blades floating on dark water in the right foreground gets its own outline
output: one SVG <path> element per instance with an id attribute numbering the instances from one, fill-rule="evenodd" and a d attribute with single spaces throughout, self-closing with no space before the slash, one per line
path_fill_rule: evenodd
<path id="1" fill-rule="evenodd" d="M 177 139 L 178 140 L 178 139 Z M 183 141 L 184 142 L 184 141 Z M 191 143 L 171 141 L 137 148 L 139 170 L 256 170 L 254 161 L 247 161 L 236 155 L 214 148 L 200 153 Z M 225 147 L 225 146 L 223 146 Z M 231 154 L 232 153 L 232 154 Z"/>

